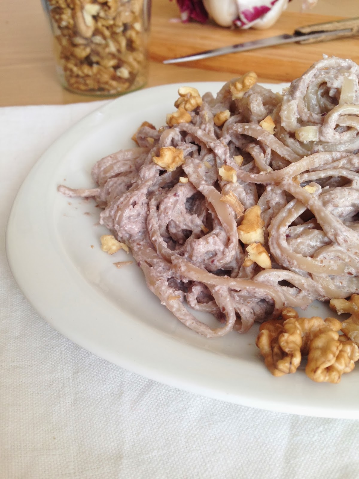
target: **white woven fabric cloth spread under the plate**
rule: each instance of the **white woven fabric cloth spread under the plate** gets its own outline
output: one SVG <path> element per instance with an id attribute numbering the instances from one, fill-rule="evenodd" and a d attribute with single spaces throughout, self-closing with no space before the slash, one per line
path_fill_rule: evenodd
<path id="1" fill-rule="evenodd" d="M 81 349 L 24 299 L 5 257 L 11 204 L 41 153 L 100 104 L 0 109 L 0 478 L 359 478 L 359 422 L 158 384 Z"/>

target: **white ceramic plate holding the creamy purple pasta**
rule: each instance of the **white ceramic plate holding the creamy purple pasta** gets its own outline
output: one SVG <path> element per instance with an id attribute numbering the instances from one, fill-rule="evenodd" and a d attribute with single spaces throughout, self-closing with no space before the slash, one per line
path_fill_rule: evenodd
<path id="1" fill-rule="evenodd" d="M 94 162 L 132 147 L 130 138 L 142 121 L 163 125 L 179 86 L 136 91 L 106 104 L 40 158 L 22 184 L 7 227 L 7 255 L 18 285 L 56 330 L 138 374 L 247 406 L 359 418 L 359 370 L 344 375 L 339 385 L 316 384 L 303 370 L 275 378 L 255 345 L 258 327 L 219 339 L 190 331 L 147 289 L 135 263 L 113 266 L 130 259 L 124 251 L 114 256 L 101 251 L 99 238 L 107 231 L 98 225 L 94 203 L 57 193 L 61 183 L 91 186 Z M 222 84 L 193 86 L 203 94 Z M 276 91 L 283 87 L 270 86 Z M 332 313 L 318 303 L 308 314 Z"/>

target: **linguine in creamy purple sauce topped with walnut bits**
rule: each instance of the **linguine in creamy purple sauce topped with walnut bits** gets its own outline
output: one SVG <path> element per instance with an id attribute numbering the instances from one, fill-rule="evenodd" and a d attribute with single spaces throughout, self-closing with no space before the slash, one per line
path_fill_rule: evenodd
<path id="1" fill-rule="evenodd" d="M 254 84 L 239 98 L 236 82 L 180 101 L 185 123 L 141 126 L 137 148 L 94 165 L 96 188 L 59 186 L 95 198 L 151 291 L 207 337 L 359 293 L 359 66 L 325 57 L 283 95 Z"/>

